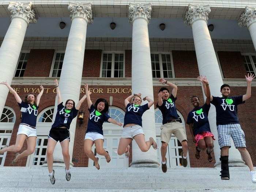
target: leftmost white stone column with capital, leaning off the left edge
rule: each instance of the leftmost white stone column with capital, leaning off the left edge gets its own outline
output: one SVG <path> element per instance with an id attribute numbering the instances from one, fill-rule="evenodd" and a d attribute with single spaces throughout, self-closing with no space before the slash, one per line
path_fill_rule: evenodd
<path id="1" fill-rule="evenodd" d="M 0 82 L 7 81 L 9 84 L 12 82 L 27 27 L 29 23 L 36 22 L 31 5 L 31 2 L 10 2 L 8 6 L 8 10 L 11 11 L 11 24 L 0 47 Z M 0 86 L 0 117 L 8 92 L 9 89 L 6 86 Z"/>

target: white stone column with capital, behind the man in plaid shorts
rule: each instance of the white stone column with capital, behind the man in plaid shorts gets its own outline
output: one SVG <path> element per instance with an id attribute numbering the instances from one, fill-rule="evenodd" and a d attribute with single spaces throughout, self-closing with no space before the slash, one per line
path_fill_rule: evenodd
<path id="1" fill-rule="evenodd" d="M 188 11 L 185 15 L 185 24 L 191 25 L 192 27 L 199 74 L 207 76 L 210 83 L 211 95 L 222 97 L 220 92 L 223 84 L 221 71 L 207 27 L 208 14 L 210 12 L 209 5 L 201 6 L 189 4 Z M 219 161 L 219 158 L 221 156 L 221 150 L 218 144 L 216 111 L 214 105 L 211 105 L 208 119 L 211 131 L 216 139 L 214 141 L 215 166 L 220 166 L 221 162 Z M 231 143 L 231 148 L 229 149 L 229 165 L 245 166 L 239 151 L 234 147 L 233 141 Z"/>

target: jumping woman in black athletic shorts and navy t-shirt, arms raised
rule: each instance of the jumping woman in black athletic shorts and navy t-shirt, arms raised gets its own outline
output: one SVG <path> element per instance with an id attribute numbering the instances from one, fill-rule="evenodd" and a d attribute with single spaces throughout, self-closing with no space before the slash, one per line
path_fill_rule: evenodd
<path id="1" fill-rule="evenodd" d="M 68 150 L 69 141 L 70 141 L 69 127 L 72 120 L 77 116 L 80 106 L 86 99 L 86 95 L 84 95 L 79 100 L 76 106 L 75 106 L 75 102 L 72 99 L 68 99 L 65 102 L 65 106 L 64 106 L 63 101 L 61 99 L 58 80 L 55 79 L 54 82 L 56 85 L 58 106 L 57 106 L 55 121 L 48 135 L 48 144 L 47 144 L 47 151 L 46 151 L 49 177 L 50 177 L 50 182 L 52 184 L 55 183 L 54 170 L 53 170 L 53 151 L 58 141 L 60 142 L 60 145 L 61 145 L 63 159 L 65 163 L 66 180 L 69 181 L 71 178 L 71 173 L 69 169 L 70 156 L 69 156 L 69 150 Z"/>

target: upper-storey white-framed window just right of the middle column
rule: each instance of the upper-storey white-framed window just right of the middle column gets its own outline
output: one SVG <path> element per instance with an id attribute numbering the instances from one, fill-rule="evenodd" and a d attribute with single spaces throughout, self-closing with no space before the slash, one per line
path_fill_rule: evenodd
<path id="1" fill-rule="evenodd" d="M 151 53 L 153 78 L 174 78 L 174 70 L 170 53 Z"/>

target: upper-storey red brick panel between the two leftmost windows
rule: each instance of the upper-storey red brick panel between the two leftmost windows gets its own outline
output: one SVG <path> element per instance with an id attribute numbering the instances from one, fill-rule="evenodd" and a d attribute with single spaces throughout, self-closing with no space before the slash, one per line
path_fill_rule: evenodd
<path id="1" fill-rule="evenodd" d="M 24 77 L 49 77 L 54 49 L 31 49 Z"/>

